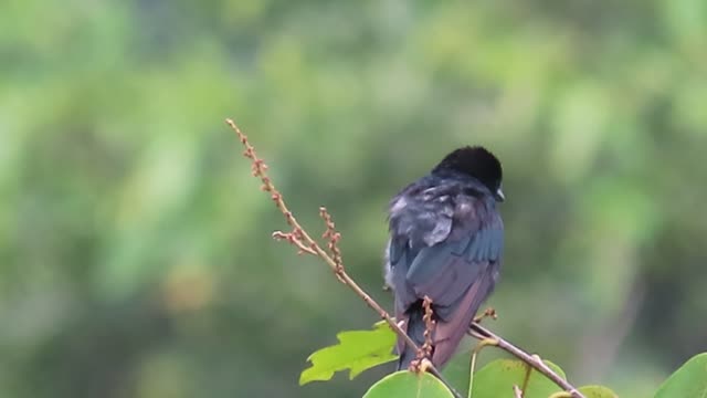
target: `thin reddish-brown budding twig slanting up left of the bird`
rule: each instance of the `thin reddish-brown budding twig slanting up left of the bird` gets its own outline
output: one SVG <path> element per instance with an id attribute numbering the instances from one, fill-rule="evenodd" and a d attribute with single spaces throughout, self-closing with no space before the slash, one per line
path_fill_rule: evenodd
<path id="1" fill-rule="evenodd" d="M 251 169 L 253 172 L 253 177 L 260 178 L 261 182 L 263 182 L 261 189 L 271 193 L 271 199 L 275 202 L 275 206 L 277 207 L 277 209 L 285 217 L 285 221 L 287 221 L 287 224 L 293 229 L 292 232 L 276 231 L 273 234 L 273 237 L 275 239 L 287 240 L 288 242 L 295 244 L 300 252 L 306 252 L 324 260 L 324 262 L 326 262 L 327 265 L 329 265 L 331 271 L 334 271 L 334 274 L 336 275 L 336 277 L 342 284 L 345 284 L 350 290 L 352 290 L 354 293 L 356 293 L 359 297 L 361 297 L 361 300 L 363 300 L 363 302 L 366 302 L 366 304 L 369 307 L 376 311 L 378 315 L 382 320 L 384 320 L 386 323 L 388 323 L 390 328 L 393 329 L 393 332 L 395 332 L 395 334 L 398 334 L 398 336 L 400 336 L 403 339 L 403 342 L 405 343 L 405 345 L 408 345 L 408 347 L 410 347 L 411 349 L 414 349 L 415 352 L 419 352 L 420 347 L 418 347 L 415 342 L 413 342 L 412 338 L 410 338 L 410 336 L 408 336 L 408 334 L 400 327 L 400 325 L 395 323 L 393 317 L 390 316 L 390 314 L 388 314 L 388 312 L 386 312 L 386 310 L 383 310 L 383 307 L 380 306 L 380 304 L 378 304 L 373 298 L 371 298 L 371 296 L 368 293 L 366 293 L 366 291 L 363 291 L 358 285 L 358 283 L 356 283 L 346 272 L 344 268 L 344 263 L 341 262 L 341 253 L 337 245 L 341 235 L 338 232 L 336 232 L 334 221 L 331 220 L 331 216 L 328 213 L 327 209 L 324 207 L 319 208 L 319 214 L 325 220 L 325 223 L 327 227 L 327 230 L 324 232 L 323 237 L 329 239 L 327 248 L 331 252 L 331 255 L 329 255 L 329 253 L 327 253 L 324 249 L 321 249 L 321 247 L 317 243 L 317 241 L 312 239 L 312 237 L 307 233 L 307 231 L 305 231 L 304 228 L 302 228 L 297 219 L 293 216 L 292 211 L 289 211 L 289 209 L 287 208 L 287 205 L 285 203 L 285 200 L 283 199 L 282 193 L 275 188 L 275 186 L 273 185 L 273 181 L 270 179 L 270 176 L 267 176 L 267 172 L 266 172 L 267 165 L 265 165 L 265 161 L 263 159 L 257 157 L 257 154 L 255 153 L 255 148 L 247 140 L 247 136 L 243 134 L 243 132 L 241 132 L 239 126 L 232 119 L 228 118 L 225 119 L 225 123 L 229 126 L 231 126 L 231 128 L 239 136 L 241 144 L 243 144 L 243 146 L 245 147 L 245 151 L 243 153 L 243 156 L 251 159 L 251 164 L 252 164 Z M 432 365 L 432 363 L 426 364 L 424 368 L 426 368 L 431 374 L 436 376 L 450 389 L 450 391 L 452 391 L 454 397 L 462 398 L 462 396 L 442 377 L 442 374 L 440 373 L 440 370 L 436 369 L 434 365 Z"/>

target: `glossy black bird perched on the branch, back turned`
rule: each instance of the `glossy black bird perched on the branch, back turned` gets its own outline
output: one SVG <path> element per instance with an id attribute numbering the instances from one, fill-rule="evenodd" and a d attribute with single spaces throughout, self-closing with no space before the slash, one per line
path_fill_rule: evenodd
<path id="1" fill-rule="evenodd" d="M 436 326 L 432 363 L 443 366 L 458 346 L 498 279 L 504 200 L 498 159 L 483 147 L 449 154 L 430 172 L 400 191 L 389 209 L 386 282 L 395 296 L 395 318 L 418 345 L 424 343 L 425 296 Z M 399 369 L 415 358 L 398 338 Z"/>

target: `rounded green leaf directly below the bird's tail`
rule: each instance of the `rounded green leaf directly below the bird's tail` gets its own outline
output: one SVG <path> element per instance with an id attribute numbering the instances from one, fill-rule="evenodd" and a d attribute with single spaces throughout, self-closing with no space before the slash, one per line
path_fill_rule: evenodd
<path id="1" fill-rule="evenodd" d="M 395 371 L 378 380 L 366 391 L 363 398 L 454 398 L 452 392 L 429 373 Z"/>

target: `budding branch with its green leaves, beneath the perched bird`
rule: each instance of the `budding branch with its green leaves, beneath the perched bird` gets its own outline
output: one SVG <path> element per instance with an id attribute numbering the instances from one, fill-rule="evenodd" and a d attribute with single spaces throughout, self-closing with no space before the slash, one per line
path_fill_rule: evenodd
<path id="1" fill-rule="evenodd" d="M 330 268 L 336 279 L 358 295 L 382 320 L 382 323 L 376 324 L 373 329 L 341 332 L 337 335 L 340 342 L 338 345 L 315 352 L 308 358 L 313 363 L 313 367 L 303 371 L 300 384 L 313 380 L 328 380 L 335 371 L 345 369 L 349 369 L 350 377 L 354 378 L 368 368 L 393 360 L 397 356 L 392 354 L 392 348 L 395 336 L 400 336 L 404 344 L 418 352 L 416 360 L 413 362 L 410 370 L 398 371 L 378 381 L 369 389 L 365 397 L 404 397 L 412 392 L 410 388 L 416 388 L 414 394 L 421 397 L 462 398 L 463 396 L 457 391 L 457 388 L 461 386 L 447 380 L 447 377 L 428 359 L 431 352 L 430 336 L 434 327 L 432 302 L 429 301 L 429 298 L 424 302 L 426 325 L 425 344 L 419 347 L 412 338 L 407 335 L 401 325 L 346 272 L 341 251 L 338 247 L 341 234 L 336 230 L 334 219 L 327 209 L 325 207 L 319 208 L 319 216 L 325 224 L 325 231 L 321 238 L 326 243 L 323 245 L 299 224 L 289 210 L 282 192 L 275 188 L 272 179 L 267 175 L 267 165 L 257 156 L 247 136 L 232 119 L 226 119 L 225 122 L 235 132 L 241 144 L 244 146 L 245 150 L 243 155 L 251 161 L 253 176 L 261 180 L 261 189 L 270 193 L 271 199 L 291 228 L 287 232 L 275 231 L 272 237 L 276 240 L 293 244 L 297 249 L 298 254 L 310 254 L 323 260 Z M 496 316 L 493 311 L 487 311 L 485 315 Z M 574 387 L 567 381 L 562 370 L 557 365 L 542 360 L 538 355 L 527 353 L 482 326 L 481 320 L 483 317 L 484 316 L 475 318 L 469 325 L 468 331 L 468 334 L 479 342 L 472 350 L 471 358 L 467 357 L 467 363 L 469 363 L 469 381 L 468 388 L 466 389 L 467 397 L 471 398 L 472 392 L 474 392 L 474 397 L 477 397 L 476 394 L 484 397 L 484 391 L 488 391 L 489 386 L 490 388 L 496 388 L 496 390 L 490 391 L 490 397 L 496 396 L 494 394 L 523 398 L 616 397 L 613 391 L 601 386 Z M 386 325 L 388 327 L 384 327 Z M 507 359 L 492 362 L 475 373 L 478 354 L 483 348 L 489 346 L 503 349 L 517 359 L 511 362 Z M 355 353 L 351 355 L 351 348 L 355 350 L 361 349 L 362 354 L 358 355 Z M 463 359 L 464 356 L 461 358 Z M 700 356 L 695 358 L 700 358 Z M 695 358 L 693 360 L 695 360 Z M 707 363 L 707 354 L 703 354 L 701 359 L 704 359 L 704 363 Z M 686 366 L 688 364 L 686 364 Z M 430 376 L 430 374 L 434 377 Z M 536 374 L 541 375 L 541 377 L 536 377 Z M 668 379 L 668 381 L 671 381 L 671 379 Z M 668 384 L 668 381 L 666 381 L 666 384 Z M 508 389 L 505 391 L 497 390 L 497 386 L 502 385 L 506 385 Z M 668 387 L 671 386 L 668 385 Z M 665 385 L 658 390 L 658 394 L 664 389 Z"/>

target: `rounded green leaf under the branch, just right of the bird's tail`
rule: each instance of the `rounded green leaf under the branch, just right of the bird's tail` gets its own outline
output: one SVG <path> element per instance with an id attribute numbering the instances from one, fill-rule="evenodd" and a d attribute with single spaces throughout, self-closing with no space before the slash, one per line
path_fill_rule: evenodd
<path id="1" fill-rule="evenodd" d="M 564 378 L 564 373 L 559 366 L 549 360 L 545 363 Z M 523 387 L 527 368 L 528 365 L 516 359 L 497 359 L 488 363 L 474 375 L 473 397 L 511 397 L 513 386 Z M 525 398 L 547 398 L 561 390 L 552 380 L 534 369 L 523 396 Z"/>

